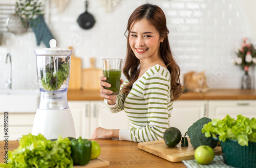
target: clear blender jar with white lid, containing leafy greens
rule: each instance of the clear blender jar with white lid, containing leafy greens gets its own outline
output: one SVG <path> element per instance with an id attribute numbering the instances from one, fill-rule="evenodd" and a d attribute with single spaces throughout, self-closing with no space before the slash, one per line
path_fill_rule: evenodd
<path id="1" fill-rule="evenodd" d="M 41 110 L 63 110 L 69 108 L 67 90 L 69 86 L 72 50 L 35 50 L 37 79 L 40 88 Z"/>

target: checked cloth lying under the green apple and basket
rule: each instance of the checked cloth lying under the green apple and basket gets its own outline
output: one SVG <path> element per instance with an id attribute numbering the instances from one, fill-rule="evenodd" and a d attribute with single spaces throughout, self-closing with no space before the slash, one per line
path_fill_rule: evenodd
<path id="1" fill-rule="evenodd" d="M 235 168 L 231 165 L 227 165 L 223 161 L 222 155 L 215 156 L 214 160 L 210 164 L 199 164 L 195 159 L 194 160 L 183 160 L 182 161 L 187 168 Z"/>

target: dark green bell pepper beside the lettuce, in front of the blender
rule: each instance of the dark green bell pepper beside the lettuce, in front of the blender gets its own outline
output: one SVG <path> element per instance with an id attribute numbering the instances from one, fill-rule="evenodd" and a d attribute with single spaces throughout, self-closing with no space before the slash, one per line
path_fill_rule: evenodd
<path id="1" fill-rule="evenodd" d="M 86 165 L 91 160 L 92 142 L 88 139 L 71 140 L 71 157 L 74 165 Z"/>

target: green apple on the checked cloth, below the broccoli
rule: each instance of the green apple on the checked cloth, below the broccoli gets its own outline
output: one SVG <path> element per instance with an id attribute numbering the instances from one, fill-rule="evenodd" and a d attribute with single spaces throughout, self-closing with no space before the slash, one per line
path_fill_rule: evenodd
<path id="1" fill-rule="evenodd" d="M 209 164 L 214 160 L 214 150 L 211 147 L 202 145 L 195 151 L 195 159 L 199 164 Z"/>

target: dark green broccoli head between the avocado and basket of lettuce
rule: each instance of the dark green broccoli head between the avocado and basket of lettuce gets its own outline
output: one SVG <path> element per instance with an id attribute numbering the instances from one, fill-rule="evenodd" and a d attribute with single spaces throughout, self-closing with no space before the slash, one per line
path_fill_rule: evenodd
<path id="1" fill-rule="evenodd" d="M 190 143 L 194 149 L 197 149 L 197 147 L 201 145 L 209 146 L 212 149 L 217 146 L 217 140 L 212 139 L 212 136 L 205 137 L 204 133 L 202 133 L 202 128 L 209 122 L 211 122 L 210 118 L 202 117 L 188 128 L 187 135 L 189 136 Z"/>

